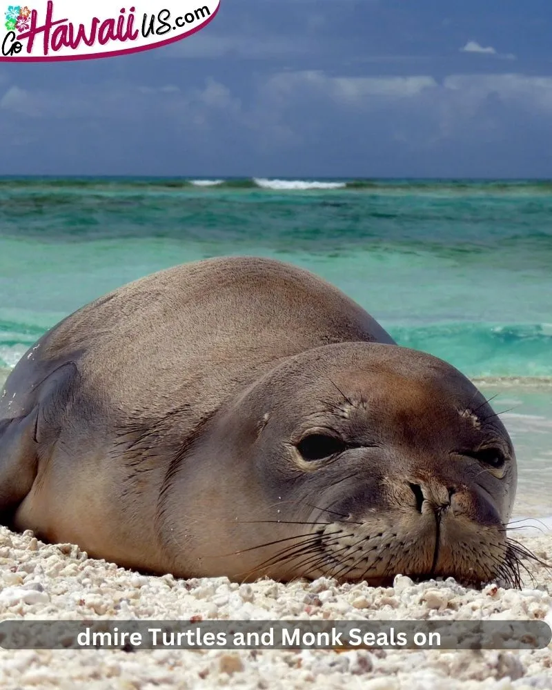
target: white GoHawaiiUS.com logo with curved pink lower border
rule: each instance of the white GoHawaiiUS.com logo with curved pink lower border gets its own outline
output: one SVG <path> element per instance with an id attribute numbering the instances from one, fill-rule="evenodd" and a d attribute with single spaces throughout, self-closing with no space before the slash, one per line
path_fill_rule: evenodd
<path id="1" fill-rule="evenodd" d="M 204 28 L 219 5 L 220 0 L 8 5 L 0 15 L 0 61 L 86 60 L 160 48 Z"/>

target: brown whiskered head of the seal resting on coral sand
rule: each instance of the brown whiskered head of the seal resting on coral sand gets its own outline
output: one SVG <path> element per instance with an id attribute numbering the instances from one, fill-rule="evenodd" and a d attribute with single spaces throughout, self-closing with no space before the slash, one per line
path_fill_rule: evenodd
<path id="1" fill-rule="evenodd" d="M 188 563 L 201 552 L 194 574 L 208 558 L 210 573 L 239 580 L 384 584 L 402 573 L 515 584 L 505 532 L 513 446 L 446 362 L 391 345 L 316 348 L 284 360 L 207 423 L 208 440 L 199 435 L 194 449 L 201 458 L 190 460 L 201 471 L 188 463 L 186 486 L 172 476 L 171 510 L 162 511 L 176 520 L 171 540 Z M 193 538 L 181 534 L 179 513 L 183 524 L 194 518 Z"/>

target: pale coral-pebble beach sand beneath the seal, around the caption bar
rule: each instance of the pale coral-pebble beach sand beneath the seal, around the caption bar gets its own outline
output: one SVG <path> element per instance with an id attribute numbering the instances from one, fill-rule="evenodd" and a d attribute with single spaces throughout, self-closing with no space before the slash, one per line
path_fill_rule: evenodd
<path id="1" fill-rule="evenodd" d="M 552 532 L 520 538 L 552 561 Z M 538 619 L 552 624 L 552 572 L 515 591 L 464 589 L 453 580 L 392 588 L 338 586 L 333 580 L 255 584 L 146 577 L 89 559 L 76 546 L 46 545 L 0 528 L 0 620 L 108 618 L 203 620 Z M 552 649 L 436 650 L 0 650 L 0 687 L 156 689 L 348 688 L 349 690 L 551 689 Z"/>

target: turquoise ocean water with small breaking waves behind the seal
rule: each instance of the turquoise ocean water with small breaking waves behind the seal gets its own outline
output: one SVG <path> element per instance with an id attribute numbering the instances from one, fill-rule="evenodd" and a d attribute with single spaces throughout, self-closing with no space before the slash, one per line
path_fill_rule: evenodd
<path id="1" fill-rule="evenodd" d="M 315 271 L 496 394 L 517 514 L 552 513 L 551 181 L 0 178 L 0 383 L 91 299 L 237 254 Z"/>

